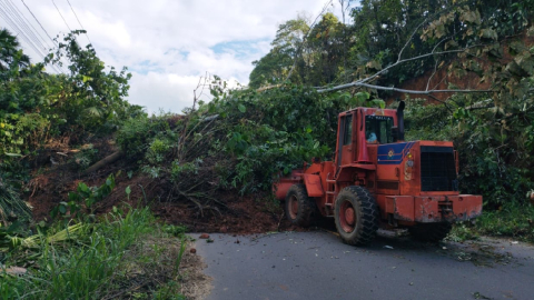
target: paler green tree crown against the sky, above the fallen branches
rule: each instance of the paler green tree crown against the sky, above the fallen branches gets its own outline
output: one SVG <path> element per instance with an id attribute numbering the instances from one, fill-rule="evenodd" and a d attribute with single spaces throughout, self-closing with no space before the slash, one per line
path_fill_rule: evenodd
<path id="1" fill-rule="evenodd" d="M 303 17 L 278 27 L 273 49 L 258 61 L 250 73 L 249 86 L 291 83 L 324 86 L 334 82 L 343 70 L 344 53 L 349 43 L 347 27 L 330 12 L 314 27 Z"/>

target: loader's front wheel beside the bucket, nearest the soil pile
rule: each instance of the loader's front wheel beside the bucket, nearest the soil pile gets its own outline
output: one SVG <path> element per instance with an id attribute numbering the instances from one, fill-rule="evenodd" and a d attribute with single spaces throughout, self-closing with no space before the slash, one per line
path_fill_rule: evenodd
<path id="1" fill-rule="evenodd" d="M 306 186 L 294 184 L 289 188 L 284 206 L 287 219 L 296 226 L 309 227 L 316 219 L 317 204 L 308 197 Z"/>

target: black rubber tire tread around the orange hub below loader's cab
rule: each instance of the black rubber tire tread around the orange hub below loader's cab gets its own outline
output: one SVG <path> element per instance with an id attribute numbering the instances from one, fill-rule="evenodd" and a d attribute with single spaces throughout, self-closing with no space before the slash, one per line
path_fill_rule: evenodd
<path id="1" fill-rule="evenodd" d="M 376 231 L 378 230 L 379 222 L 379 212 L 378 206 L 376 204 L 375 198 L 369 193 L 369 191 L 359 186 L 350 186 L 343 189 L 339 197 L 352 197 L 358 202 L 360 210 L 362 226 L 357 226 L 355 231 L 346 233 L 340 228 L 338 221 L 339 207 L 336 201 L 335 219 L 337 232 L 342 237 L 342 240 L 345 243 L 353 246 L 364 246 L 369 243 L 376 237 Z M 355 207 L 355 209 L 357 209 Z"/>

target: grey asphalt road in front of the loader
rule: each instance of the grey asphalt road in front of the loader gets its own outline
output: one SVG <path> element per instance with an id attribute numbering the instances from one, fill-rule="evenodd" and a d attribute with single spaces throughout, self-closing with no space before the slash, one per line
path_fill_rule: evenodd
<path id="1" fill-rule="evenodd" d="M 379 237 L 356 248 L 326 231 L 210 238 L 196 248 L 212 300 L 534 299 L 534 247 L 512 241 Z"/>

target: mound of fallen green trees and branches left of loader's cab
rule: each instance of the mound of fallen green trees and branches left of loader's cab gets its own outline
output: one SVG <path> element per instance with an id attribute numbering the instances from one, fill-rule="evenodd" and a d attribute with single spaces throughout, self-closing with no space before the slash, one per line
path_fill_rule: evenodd
<path id="1" fill-rule="evenodd" d="M 269 190 L 275 174 L 314 157 L 329 158 L 340 111 L 385 106 L 368 92 L 325 96 L 296 84 L 228 90 L 217 77 L 210 83 L 214 99 L 198 110 L 186 110 L 178 120 L 169 114 L 132 119 L 117 134 L 145 173 L 170 179 L 179 197 L 194 202 L 214 199 L 217 188 Z"/>

